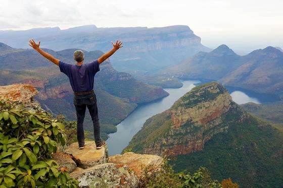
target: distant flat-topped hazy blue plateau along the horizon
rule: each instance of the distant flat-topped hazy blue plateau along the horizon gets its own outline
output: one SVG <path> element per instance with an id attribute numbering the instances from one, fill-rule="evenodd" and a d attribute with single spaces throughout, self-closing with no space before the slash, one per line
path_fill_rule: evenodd
<path id="1" fill-rule="evenodd" d="M 160 28 L 90 25 L 65 30 L 55 27 L 0 31 L 0 41 L 17 48 L 28 47 L 30 38 L 40 40 L 42 47 L 57 51 L 80 48 L 106 52 L 112 48 L 111 41 L 121 40 L 124 47 L 111 57 L 112 64 L 116 70 L 136 76 L 172 66 L 199 51 L 210 50 L 184 25 Z"/>

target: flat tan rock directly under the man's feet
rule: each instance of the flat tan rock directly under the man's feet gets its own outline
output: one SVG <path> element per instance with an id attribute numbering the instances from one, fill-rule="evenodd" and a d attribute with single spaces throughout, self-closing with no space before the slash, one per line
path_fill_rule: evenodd
<path id="1" fill-rule="evenodd" d="M 95 141 L 85 141 L 85 146 L 82 150 L 79 149 L 77 142 L 73 143 L 64 152 L 71 155 L 77 166 L 83 169 L 107 163 L 108 160 L 107 145 L 97 150 Z"/>

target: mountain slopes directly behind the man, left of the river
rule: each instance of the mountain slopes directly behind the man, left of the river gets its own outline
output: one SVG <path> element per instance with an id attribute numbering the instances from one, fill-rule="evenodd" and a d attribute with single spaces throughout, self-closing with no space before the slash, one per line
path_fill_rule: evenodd
<path id="1" fill-rule="evenodd" d="M 44 49 L 65 62 L 73 62 L 76 49 L 53 51 Z M 85 61 L 100 57 L 99 50 L 85 51 Z M 57 66 L 32 49 L 6 49 L 0 51 L 0 85 L 29 83 L 39 94 L 36 99 L 53 114 L 63 114 L 68 120 L 76 120 L 73 92 L 68 77 Z M 95 92 L 103 138 L 116 132 L 115 125 L 132 112 L 138 104 L 167 96 L 162 88 L 144 84 L 130 74 L 117 72 L 109 59 L 100 65 L 95 77 Z M 90 115 L 86 113 L 86 130 L 92 130 Z"/>

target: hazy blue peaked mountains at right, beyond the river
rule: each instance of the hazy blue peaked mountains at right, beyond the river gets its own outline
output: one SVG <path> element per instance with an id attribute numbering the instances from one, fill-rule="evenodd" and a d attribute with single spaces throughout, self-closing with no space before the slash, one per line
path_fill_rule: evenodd
<path id="1" fill-rule="evenodd" d="M 159 75 L 216 80 L 227 86 L 283 96 L 282 73 L 283 52 L 274 47 L 240 56 L 226 45 L 220 45 L 211 52 L 199 52 L 181 64 L 159 72 Z"/>

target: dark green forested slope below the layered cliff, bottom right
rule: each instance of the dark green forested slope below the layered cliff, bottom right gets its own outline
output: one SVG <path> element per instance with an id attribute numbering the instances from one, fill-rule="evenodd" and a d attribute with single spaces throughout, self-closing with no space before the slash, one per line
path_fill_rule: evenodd
<path id="1" fill-rule="evenodd" d="M 241 187 L 280 187 L 283 184 L 282 134 L 251 117 L 242 123 L 230 122 L 226 133 L 214 135 L 202 151 L 178 155 L 176 171 L 196 171 L 205 166 L 211 176 L 231 177 Z"/>

